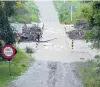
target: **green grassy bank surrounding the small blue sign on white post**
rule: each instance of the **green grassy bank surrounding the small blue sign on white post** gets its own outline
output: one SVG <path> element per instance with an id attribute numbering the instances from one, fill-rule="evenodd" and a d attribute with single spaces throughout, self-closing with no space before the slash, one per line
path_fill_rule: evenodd
<path id="1" fill-rule="evenodd" d="M 83 19 L 81 9 L 88 6 L 89 3 L 81 3 L 80 1 L 56 1 L 54 0 L 54 5 L 58 11 L 58 17 L 62 24 L 74 24 L 77 19 Z M 73 11 L 73 20 L 71 21 L 71 12 L 69 10 L 70 6 L 75 6 Z"/>

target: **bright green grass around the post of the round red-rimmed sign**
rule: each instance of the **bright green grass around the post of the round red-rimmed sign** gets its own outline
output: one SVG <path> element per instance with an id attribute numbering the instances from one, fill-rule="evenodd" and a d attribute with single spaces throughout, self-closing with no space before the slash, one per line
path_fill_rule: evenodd
<path id="1" fill-rule="evenodd" d="M 2 61 L 0 62 L 0 87 L 4 87 L 11 80 L 15 79 L 17 76 L 20 76 L 27 67 L 28 63 L 32 61 L 28 55 L 23 53 L 21 50 L 18 50 L 18 53 L 11 60 L 11 73 L 12 76 L 9 76 L 9 68 L 8 62 Z"/>

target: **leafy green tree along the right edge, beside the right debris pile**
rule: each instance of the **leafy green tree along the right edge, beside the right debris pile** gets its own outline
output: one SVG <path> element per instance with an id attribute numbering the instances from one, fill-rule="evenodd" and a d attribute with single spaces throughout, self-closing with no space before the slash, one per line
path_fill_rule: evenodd
<path id="1" fill-rule="evenodd" d="M 92 8 L 82 10 L 84 17 L 89 22 L 89 30 L 85 34 L 87 41 L 92 42 L 93 48 L 100 48 L 100 1 L 94 1 Z"/>

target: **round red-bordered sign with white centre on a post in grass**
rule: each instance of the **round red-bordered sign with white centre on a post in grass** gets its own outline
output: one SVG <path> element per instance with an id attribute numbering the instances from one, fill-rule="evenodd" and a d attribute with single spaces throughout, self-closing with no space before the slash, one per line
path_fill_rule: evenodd
<path id="1" fill-rule="evenodd" d="M 11 60 L 16 54 L 16 49 L 12 45 L 6 44 L 2 47 L 1 53 L 4 58 Z"/>

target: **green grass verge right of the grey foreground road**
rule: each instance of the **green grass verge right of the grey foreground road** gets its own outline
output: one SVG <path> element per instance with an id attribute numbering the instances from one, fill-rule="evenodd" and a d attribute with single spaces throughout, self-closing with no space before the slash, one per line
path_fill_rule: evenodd
<path id="1" fill-rule="evenodd" d="M 94 60 L 78 65 L 78 71 L 84 87 L 100 87 L 100 74 L 96 74 L 97 63 Z"/>

